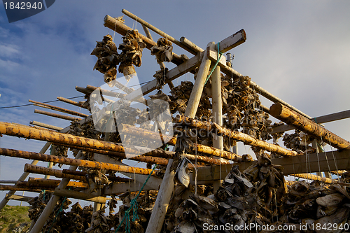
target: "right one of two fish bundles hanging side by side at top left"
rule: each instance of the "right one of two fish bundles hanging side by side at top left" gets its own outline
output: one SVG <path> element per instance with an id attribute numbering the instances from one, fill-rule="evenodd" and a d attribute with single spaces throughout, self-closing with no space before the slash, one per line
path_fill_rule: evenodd
<path id="1" fill-rule="evenodd" d="M 123 43 L 118 47 L 123 51 L 119 56 L 120 66 L 118 71 L 123 73 L 127 80 L 131 78 L 132 73 L 135 73 L 134 65 L 141 66 L 142 50 L 144 48 L 146 48 L 146 43 L 140 38 L 139 31 L 130 30 L 123 36 Z"/>

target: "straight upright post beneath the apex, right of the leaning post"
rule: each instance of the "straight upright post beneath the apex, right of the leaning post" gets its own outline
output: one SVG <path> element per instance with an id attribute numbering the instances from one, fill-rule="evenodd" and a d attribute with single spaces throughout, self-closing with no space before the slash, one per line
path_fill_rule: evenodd
<path id="1" fill-rule="evenodd" d="M 211 45 L 214 50 L 215 45 Z M 221 71 L 220 66 L 216 66 L 214 72 L 211 75 L 211 91 L 213 93 L 213 122 L 222 126 L 223 125 L 223 101 L 221 99 Z M 213 135 L 213 147 L 223 150 L 223 137 Z M 221 181 L 214 181 L 214 192 L 218 190 L 221 185 Z"/>

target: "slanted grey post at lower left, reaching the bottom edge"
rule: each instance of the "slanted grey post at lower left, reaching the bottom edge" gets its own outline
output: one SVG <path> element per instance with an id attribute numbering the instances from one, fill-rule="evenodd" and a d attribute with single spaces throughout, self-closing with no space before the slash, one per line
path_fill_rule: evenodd
<path id="1" fill-rule="evenodd" d="M 76 155 L 76 159 L 78 159 L 81 156 L 81 150 L 79 151 L 78 155 Z M 75 171 L 78 168 L 78 166 L 71 166 L 69 167 L 69 170 Z M 66 188 L 66 185 L 69 183 L 69 178 L 63 178 L 61 183 L 58 185 L 58 189 L 64 189 Z M 57 202 L 59 200 L 59 196 L 52 195 L 50 201 L 45 206 L 45 209 L 41 213 L 38 220 L 36 220 L 36 223 L 34 224 L 33 228 L 29 233 L 39 233 L 41 232 L 41 228 L 43 228 L 43 225 L 45 224 L 46 220 L 48 220 L 48 217 L 52 213 L 53 209 L 55 208 Z"/>

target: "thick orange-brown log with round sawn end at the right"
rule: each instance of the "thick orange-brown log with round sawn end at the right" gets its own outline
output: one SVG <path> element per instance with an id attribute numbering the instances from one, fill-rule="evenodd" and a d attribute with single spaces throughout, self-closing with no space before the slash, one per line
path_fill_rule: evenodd
<path id="1" fill-rule="evenodd" d="M 275 118 L 286 122 L 289 125 L 294 125 L 297 129 L 302 132 L 315 136 L 324 143 L 328 143 L 337 149 L 350 149 L 349 141 L 342 139 L 341 137 L 333 134 L 328 129 L 321 127 L 316 122 L 305 118 L 304 116 L 291 111 L 282 104 L 272 104 L 269 108 L 269 113 Z"/>

